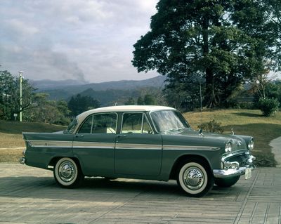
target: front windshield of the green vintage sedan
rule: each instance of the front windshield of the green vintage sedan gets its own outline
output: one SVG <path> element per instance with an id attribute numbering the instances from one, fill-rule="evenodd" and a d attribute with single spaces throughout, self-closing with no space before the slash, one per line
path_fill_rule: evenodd
<path id="1" fill-rule="evenodd" d="M 190 128 L 183 115 L 176 110 L 155 111 L 151 112 L 150 115 L 158 133 Z"/>

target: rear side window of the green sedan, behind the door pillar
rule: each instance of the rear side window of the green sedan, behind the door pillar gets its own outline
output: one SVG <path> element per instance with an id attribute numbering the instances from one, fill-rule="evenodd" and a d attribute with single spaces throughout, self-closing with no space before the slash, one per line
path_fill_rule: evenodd
<path id="1" fill-rule="evenodd" d="M 116 133 L 117 114 L 93 114 L 79 129 L 79 133 Z"/>

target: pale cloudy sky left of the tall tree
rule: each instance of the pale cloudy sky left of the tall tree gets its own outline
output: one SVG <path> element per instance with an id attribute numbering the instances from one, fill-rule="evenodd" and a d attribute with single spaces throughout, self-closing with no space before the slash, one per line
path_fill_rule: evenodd
<path id="1" fill-rule="evenodd" d="M 27 79 L 141 80 L 133 44 L 158 0 L 1 0 L 0 70 Z"/>

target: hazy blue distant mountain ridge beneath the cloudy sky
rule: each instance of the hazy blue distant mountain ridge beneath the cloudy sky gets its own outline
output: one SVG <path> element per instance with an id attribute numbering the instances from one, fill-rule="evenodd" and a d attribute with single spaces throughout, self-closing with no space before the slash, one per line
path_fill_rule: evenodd
<path id="1" fill-rule="evenodd" d="M 141 88 L 164 88 L 165 77 L 158 76 L 145 80 L 107 81 L 102 83 L 81 84 L 76 80 L 66 81 L 30 81 L 37 92 L 48 93 L 50 100 L 70 100 L 72 95 L 81 93 L 91 95 L 105 105 L 117 98 L 134 97 Z"/>

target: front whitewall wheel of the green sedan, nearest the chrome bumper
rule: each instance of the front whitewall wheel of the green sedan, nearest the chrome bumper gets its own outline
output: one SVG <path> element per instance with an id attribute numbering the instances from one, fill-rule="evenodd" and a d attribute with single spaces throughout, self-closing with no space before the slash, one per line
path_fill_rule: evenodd
<path id="1" fill-rule="evenodd" d="M 214 185 L 214 176 L 209 166 L 201 159 L 190 159 L 178 171 L 178 185 L 191 197 L 202 197 Z"/>

